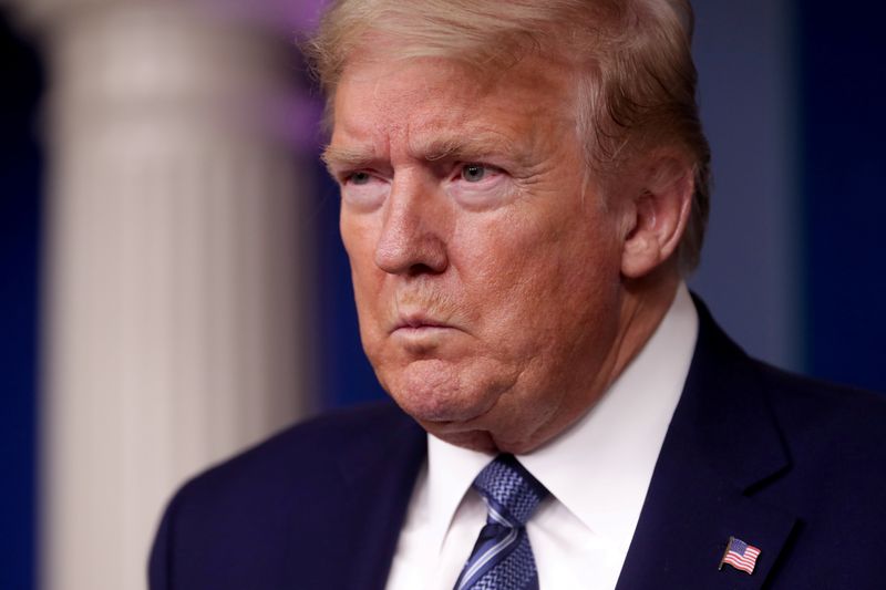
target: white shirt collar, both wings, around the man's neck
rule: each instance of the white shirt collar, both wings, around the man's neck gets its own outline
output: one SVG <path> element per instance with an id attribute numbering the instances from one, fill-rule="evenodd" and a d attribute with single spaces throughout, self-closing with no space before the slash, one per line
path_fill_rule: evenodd
<path id="1" fill-rule="evenodd" d="M 637 356 L 591 410 L 519 462 L 595 534 L 619 545 L 633 535 L 656 460 L 698 338 L 684 283 Z M 432 539 L 441 545 L 471 483 L 494 455 L 429 435 Z"/>

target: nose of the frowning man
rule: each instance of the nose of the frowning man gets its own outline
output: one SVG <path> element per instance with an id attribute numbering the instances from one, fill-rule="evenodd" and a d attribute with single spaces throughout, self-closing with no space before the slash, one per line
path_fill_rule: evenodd
<path id="1" fill-rule="evenodd" d="M 375 246 L 375 265 L 384 272 L 414 276 L 446 270 L 444 206 L 432 190 L 409 178 L 394 180 Z"/>

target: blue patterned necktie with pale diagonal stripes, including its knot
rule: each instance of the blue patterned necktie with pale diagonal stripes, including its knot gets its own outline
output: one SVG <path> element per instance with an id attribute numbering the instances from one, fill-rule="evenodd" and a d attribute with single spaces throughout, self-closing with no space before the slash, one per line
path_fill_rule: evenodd
<path id="1" fill-rule="evenodd" d="M 455 590 L 537 590 L 525 525 L 547 489 L 513 455 L 496 457 L 473 486 L 483 495 L 488 514 Z"/>

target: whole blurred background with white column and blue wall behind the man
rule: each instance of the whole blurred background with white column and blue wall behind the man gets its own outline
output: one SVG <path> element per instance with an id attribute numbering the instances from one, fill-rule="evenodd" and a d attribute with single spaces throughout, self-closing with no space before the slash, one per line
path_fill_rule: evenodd
<path id="1" fill-rule="evenodd" d="M 0 588 L 144 588 L 181 482 L 382 395 L 321 0 L 0 0 Z M 715 190 L 692 287 L 752 354 L 886 391 L 884 9 L 696 2 Z"/>

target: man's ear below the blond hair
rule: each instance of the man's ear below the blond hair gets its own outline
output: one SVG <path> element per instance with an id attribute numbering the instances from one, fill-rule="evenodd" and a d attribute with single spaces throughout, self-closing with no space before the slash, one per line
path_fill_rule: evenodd
<path id="1" fill-rule="evenodd" d="M 632 200 L 625 209 L 621 273 L 639 279 L 677 250 L 692 207 L 694 174 L 682 156 L 657 154 L 636 176 Z"/>

